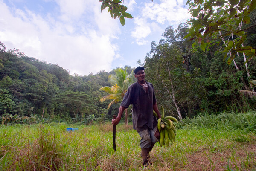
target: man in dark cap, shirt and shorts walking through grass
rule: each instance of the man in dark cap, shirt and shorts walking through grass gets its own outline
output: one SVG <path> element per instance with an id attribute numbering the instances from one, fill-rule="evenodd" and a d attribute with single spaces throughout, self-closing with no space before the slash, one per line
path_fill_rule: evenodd
<path id="1" fill-rule="evenodd" d="M 149 152 L 159 140 L 157 118 L 153 115 L 153 110 L 157 113 L 159 118 L 161 115 L 157 107 L 153 85 L 145 81 L 144 67 L 137 67 L 134 70 L 134 74 L 135 78 L 137 78 L 137 82 L 131 84 L 125 93 L 118 116 L 116 119 L 112 119 L 112 124 L 117 125 L 121 120 L 124 110 L 132 104 L 133 128 L 137 130 L 141 137 L 140 147 L 143 165 L 148 165 L 148 163 L 150 163 Z"/>

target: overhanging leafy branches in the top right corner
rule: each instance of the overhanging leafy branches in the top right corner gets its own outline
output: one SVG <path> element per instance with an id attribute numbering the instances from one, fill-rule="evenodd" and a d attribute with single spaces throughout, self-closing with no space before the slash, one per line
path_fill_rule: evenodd
<path id="1" fill-rule="evenodd" d="M 247 30 L 256 26 L 250 17 L 255 11 L 255 0 L 188 0 L 187 4 L 192 18 L 189 33 L 184 38 L 196 40 L 193 46 L 199 43 L 205 51 L 215 43 L 212 40 L 220 42 L 227 37 L 222 52 L 228 64 L 239 53 L 245 53 L 249 57 L 247 60 L 256 56 L 256 47 L 244 46 Z"/>

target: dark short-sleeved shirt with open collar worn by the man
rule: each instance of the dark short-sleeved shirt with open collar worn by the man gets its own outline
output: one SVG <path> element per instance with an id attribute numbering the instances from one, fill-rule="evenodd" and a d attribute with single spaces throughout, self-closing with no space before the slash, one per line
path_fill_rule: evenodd
<path id="1" fill-rule="evenodd" d="M 157 102 L 154 87 L 148 83 L 148 93 L 138 83 L 131 84 L 121 102 L 121 106 L 129 107 L 132 104 L 133 128 L 137 131 L 153 129 L 157 125 L 157 119 L 153 116 L 153 104 Z"/>

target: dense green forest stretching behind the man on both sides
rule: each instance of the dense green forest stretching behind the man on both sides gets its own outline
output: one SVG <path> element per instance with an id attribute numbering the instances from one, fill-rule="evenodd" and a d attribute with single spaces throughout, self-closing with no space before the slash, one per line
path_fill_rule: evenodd
<path id="1" fill-rule="evenodd" d="M 250 15 L 255 25 L 255 10 Z M 179 119 L 199 114 L 246 112 L 256 109 L 256 58 L 246 61 L 237 52 L 228 64 L 221 52 L 228 41 L 223 36 L 211 40 L 202 49 L 185 38 L 189 26 L 181 23 L 177 29 L 166 28 L 159 43 L 151 43 L 145 61 L 146 80 L 153 83 L 157 103 L 167 115 Z M 244 46 L 256 47 L 256 27 L 246 29 Z M 128 73 L 134 69 L 124 66 Z M 87 76 L 70 75 L 58 64 L 47 64 L 27 57 L 18 49 L 6 50 L 0 42 L 0 119 L 2 123 L 23 122 L 104 122 L 118 113 L 119 104 L 107 109 L 110 101 L 100 102 L 106 93 L 104 86 L 111 72 L 100 71 Z M 136 81 L 134 79 L 134 81 Z M 128 110 L 131 121 L 131 110 Z"/>

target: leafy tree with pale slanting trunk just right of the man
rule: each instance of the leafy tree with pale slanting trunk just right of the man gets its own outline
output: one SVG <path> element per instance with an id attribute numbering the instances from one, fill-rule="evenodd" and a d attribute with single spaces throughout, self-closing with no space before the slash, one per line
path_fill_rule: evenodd
<path id="1" fill-rule="evenodd" d="M 151 43 L 151 51 L 145 58 L 147 78 L 155 85 L 156 95 L 169 113 L 182 119 L 181 110 L 191 116 L 194 106 L 200 104 L 204 87 L 198 78 L 183 67 L 180 48 L 160 40 Z M 186 109 L 185 109 L 186 108 Z M 175 112 L 172 112 L 175 111 Z"/>

